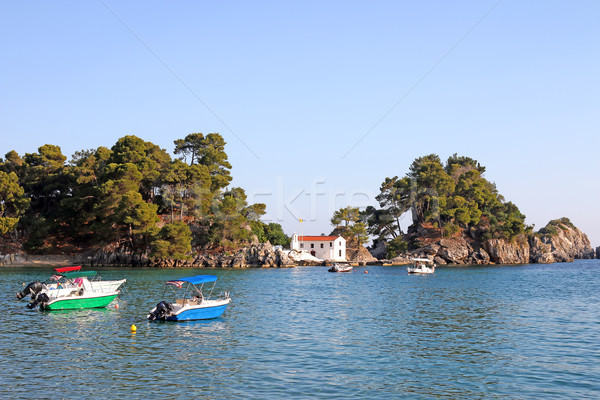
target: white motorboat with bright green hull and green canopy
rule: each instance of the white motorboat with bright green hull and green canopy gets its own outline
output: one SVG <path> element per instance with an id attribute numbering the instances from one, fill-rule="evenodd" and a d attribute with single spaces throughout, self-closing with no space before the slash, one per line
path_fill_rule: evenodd
<path id="1" fill-rule="evenodd" d="M 39 305 L 41 310 L 48 311 L 106 307 L 119 295 L 118 288 L 126 280 L 88 279 L 95 275 L 94 271 L 66 273 L 64 276 L 68 278 L 68 284 L 47 286 L 28 307 Z"/>

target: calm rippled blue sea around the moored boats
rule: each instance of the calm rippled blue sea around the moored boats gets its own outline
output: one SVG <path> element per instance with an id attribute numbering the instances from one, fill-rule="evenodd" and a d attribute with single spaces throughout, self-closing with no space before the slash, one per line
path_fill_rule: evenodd
<path id="1" fill-rule="evenodd" d="M 600 260 L 431 276 L 103 269 L 128 280 L 118 309 L 43 313 L 16 300 L 50 272 L 0 269 L 0 397 L 600 397 Z M 197 274 L 231 291 L 222 317 L 145 320 L 165 280 Z"/>

